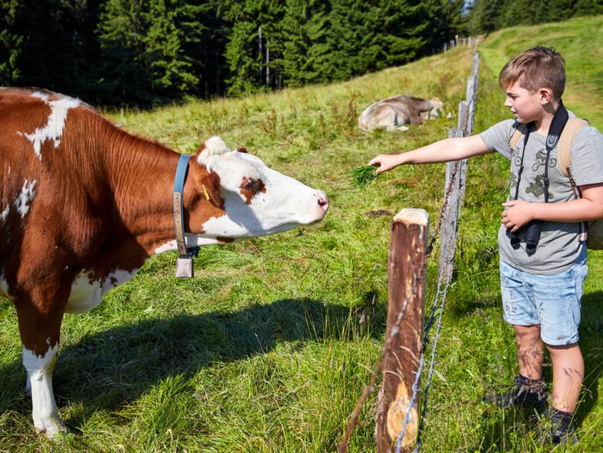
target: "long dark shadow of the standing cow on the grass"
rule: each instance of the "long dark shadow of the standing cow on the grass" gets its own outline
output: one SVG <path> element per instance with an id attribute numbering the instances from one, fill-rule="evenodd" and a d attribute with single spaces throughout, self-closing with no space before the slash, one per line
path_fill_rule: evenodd
<path id="1" fill-rule="evenodd" d="M 283 299 L 230 314 L 136 320 L 62 347 L 53 374 L 55 398 L 59 407 L 66 399 L 82 403 L 84 417 L 99 408 L 115 410 L 167 377 L 192 375 L 213 362 L 262 354 L 282 342 L 302 348 L 308 341 L 355 338 L 362 318 L 349 306 Z M 31 411 L 30 399 L 21 391 L 24 383 L 21 361 L 0 366 L 0 413 Z"/>

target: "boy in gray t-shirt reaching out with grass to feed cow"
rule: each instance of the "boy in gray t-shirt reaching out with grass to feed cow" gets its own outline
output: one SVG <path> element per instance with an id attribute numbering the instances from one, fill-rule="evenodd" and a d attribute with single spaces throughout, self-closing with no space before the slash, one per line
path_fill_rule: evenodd
<path id="1" fill-rule="evenodd" d="M 484 401 L 544 408 L 546 347 L 553 365 L 553 392 L 545 417 L 551 420 L 553 444 L 578 442 L 573 413 L 584 377 L 578 326 L 587 275 L 580 229 L 581 222 L 603 217 L 603 135 L 587 126 L 574 136 L 571 169 L 580 199 L 556 166 L 556 144 L 547 156 L 547 139 L 554 143 L 556 138 L 549 128 L 563 122 L 567 112 L 561 102 L 565 82 L 563 57 L 533 47 L 505 64 L 498 76 L 515 120 L 499 122 L 479 135 L 443 139 L 402 154 L 380 154 L 369 162 L 381 173 L 402 164 L 456 161 L 495 151 L 510 160 L 510 193 L 503 203 L 498 248 L 503 316 L 515 330 L 520 375 L 506 394 Z M 520 123 L 528 125 L 525 139 L 511 152 L 509 139 Z"/>

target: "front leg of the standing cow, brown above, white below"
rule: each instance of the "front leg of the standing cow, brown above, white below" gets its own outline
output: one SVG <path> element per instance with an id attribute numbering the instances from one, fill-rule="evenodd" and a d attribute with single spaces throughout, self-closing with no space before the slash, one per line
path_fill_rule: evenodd
<path id="1" fill-rule="evenodd" d="M 31 394 L 36 432 L 54 437 L 68 431 L 57 410 L 52 391 L 52 371 L 59 350 L 62 313 L 40 313 L 32 304 L 16 304 L 23 343 L 23 367 L 27 371 L 25 390 Z"/>

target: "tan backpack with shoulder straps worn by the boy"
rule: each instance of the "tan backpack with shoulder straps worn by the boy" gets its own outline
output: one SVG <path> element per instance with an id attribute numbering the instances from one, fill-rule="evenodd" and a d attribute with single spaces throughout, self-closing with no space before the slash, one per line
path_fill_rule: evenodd
<path id="1" fill-rule="evenodd" d="M 587 120 L 582 120 L 580 118 L 570 118 L 566 123 L 566 126 L 563 127 L 563 131 L 561 132 L 561 136 L 559 137 L 559 148 L 557 151 L 557 165 L 563 173 L 563 176 L 566 176 L 570 180 L 570 184 L 574 190 L 574 195 L 576 198 L 580 198 L 580 188 L 575 185 L 574 178 L 571 173 L 572 166 L 572 156 L 571 156 L 571 144 L 574 134 L 578 132 L 582 127 L 587 126 L 589 123 Z M 513 132 L 513 135 L 509 139 L 509 147 L 511 152 L 513 152 L 513 148 L 519 142 L 519 139 L 525 132 L 527 124 L 520 124 Z M 586 246 L 591 250 L 603 250 L 603 219 L 590 220 L 585 222 L 587 224 L 587 236 L 586 236 Z"/>

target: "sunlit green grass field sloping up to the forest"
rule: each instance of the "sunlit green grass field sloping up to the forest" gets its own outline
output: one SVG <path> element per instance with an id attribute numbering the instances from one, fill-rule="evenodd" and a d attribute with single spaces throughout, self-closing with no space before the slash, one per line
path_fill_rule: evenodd
<path id="1" fill-rule="evenodd" d="M 479 45 L 474 132 L 509 117 L 496 84 L 517 52 L 553 45 L 567 60 L 564 102 L 603 127 L 603 16 L 502 30 Z M 123 127 L 192 154 L 212 135 L 245 146 L 269 166 L 325 190 L 322 224 L 201 248 L 196 277 L 173 277 L 175 253 L 148 260 L 96 309 L 68 315 L 54 372 L 59 413 L 83 439 L 37 436 L 21 390 L 16 314 L 0 300 L 0 452 L 334 452 L 385 337 L 390 223 L 403 207 L 435 224 L 444 165 L 405 166 L 363 188 L 351 168 L 380 153 L 447 137 L 465 97 L 473 50 L 457 47 L 342 84 L 242 99 L 194 99 L 152 112 L 110 111 Z M 452 117 L 406 132 L 365 134 L 356 119 L 395 94 L 440 97 Z M 469 161 L 455 274 L 447 292 L 423 452 L 541 452 L 529 415 L 481 406 L 517 374 L 513 332 L 501 316 L 496 231 L 508 165 Z M 437 245 L 437 244 L 436 244 Z M 428 261 L 435 297 L 437 253 Z M 603 428 L 603 252 L 590 256 L 580 343 L 587 376 L 580 445 L 599 451 Z M 550 382 L 549 367 L 545 378 Z M 348 452 L 375 451 L 376 392 Z"/>

